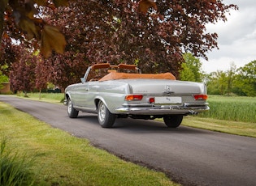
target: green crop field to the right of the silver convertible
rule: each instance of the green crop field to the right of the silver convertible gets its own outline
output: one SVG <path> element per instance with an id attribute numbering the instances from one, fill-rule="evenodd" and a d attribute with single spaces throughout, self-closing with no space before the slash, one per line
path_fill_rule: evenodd
<path id="1" fill-rule="evenodd" d="M 210 111 L 198 116 L 256 123 L 256 98 L 209 95 Z"/>

